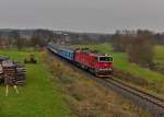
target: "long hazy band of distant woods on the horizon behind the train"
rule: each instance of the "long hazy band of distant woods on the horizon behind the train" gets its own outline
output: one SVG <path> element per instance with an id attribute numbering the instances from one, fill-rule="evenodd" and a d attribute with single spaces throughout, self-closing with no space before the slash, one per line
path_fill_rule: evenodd
<path id="1" fill-rule="evenodd" d="M 49 30 L 0 30 L 0 43 L 5 42 L 10 46 L 45 46 L 52 40 L 59 44 L 87 44 L 105 43 L 110 34 L 73 33 Z"/>

